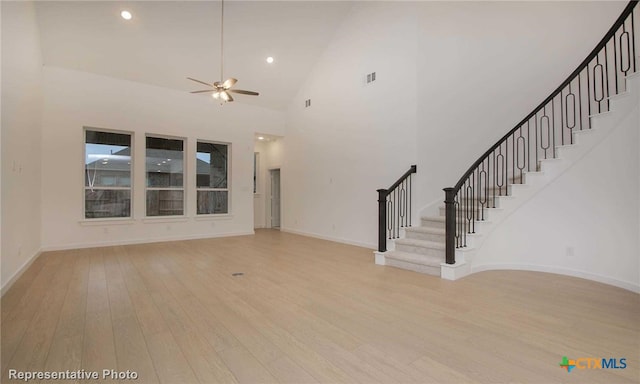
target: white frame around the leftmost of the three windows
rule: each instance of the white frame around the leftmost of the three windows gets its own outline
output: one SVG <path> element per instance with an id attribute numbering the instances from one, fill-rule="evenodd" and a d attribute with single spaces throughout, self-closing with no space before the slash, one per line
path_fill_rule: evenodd
<path id="1" fill-rule="evenodd" d="M 99 133 L 114 133 L 119 135 L 128 135 L 130 137 L 129 149 L 131 151 L 130 154 L 130 164 L 129 164 L 129 186 L 128 187 L 119 187 L 119 186 L 87 186 L 85 185 L 87 175 L 87 132 L 99 132 Z M 133 219 L 134 213 L 134 183 L 135 183 L 135 132 L 118 130 L 118 129 L 110 129 L 110 128 L 98 128 L 98 127 L 90 127 L 83 126 L 82 127 L 82 219 L 81 222 L 98 222 L 98 221 L 130 221 Z M 87 197 L 86 191 L 88 189 L 93 190 L 106 190 L 106 191 L 129 191 L 129 216 L 115 216 L 115 217 L 87 217 Z"/>

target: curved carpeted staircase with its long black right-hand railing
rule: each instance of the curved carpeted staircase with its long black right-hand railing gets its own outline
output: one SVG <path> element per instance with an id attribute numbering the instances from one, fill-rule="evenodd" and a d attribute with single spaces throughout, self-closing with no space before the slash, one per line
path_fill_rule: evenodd
<path id="1" fill-rule="evenodd" d="M 379 247 L 376 264 L 450 280 L 471 273 L 483 238 L 604 140 L 616 127 L 616 110 L 640 103 L 637 4 L 629 2 L 567 80 L 445 189 L 437 215 L 396 230 L 394 249 Z"/>

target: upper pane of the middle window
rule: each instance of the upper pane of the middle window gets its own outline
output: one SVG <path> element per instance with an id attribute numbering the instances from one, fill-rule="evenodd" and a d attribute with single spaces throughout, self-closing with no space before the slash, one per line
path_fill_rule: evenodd
<path id="1" fill-rule="evenodd" d="M 147 137 L 147 187 L 183 187 L 183 141 Z"/>

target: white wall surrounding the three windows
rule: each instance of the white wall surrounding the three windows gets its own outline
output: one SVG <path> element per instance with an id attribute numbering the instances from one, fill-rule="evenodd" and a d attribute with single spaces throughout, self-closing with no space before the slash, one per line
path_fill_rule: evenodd
<path id="1" fill-rule="evenodd" d="M 42 232 L 45 249 L 248 234 L 253 231 L 254 132 L 282 134 L 280 112 L 83 72 L 45 67 Z M 82 217 L 83 127 L 134 132 L 133 219 Z M 186 219 L 145 219 L 145 134 L 186 139 Z M 231 215 L 195 216 L 196 140 L 231 143 Z"/>

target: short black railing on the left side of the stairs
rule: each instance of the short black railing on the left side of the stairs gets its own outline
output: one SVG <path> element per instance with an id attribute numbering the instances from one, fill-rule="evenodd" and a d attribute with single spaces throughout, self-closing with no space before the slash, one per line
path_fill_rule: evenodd
<path id="1" fill-rule="evenodd" d="M 400 228 L 411 226 L 411 175 L 417 167 L 412 165 L 388 189 L 378 189 L 378 252 L 387 251 L 387 239 L 400 237 Z"/>

